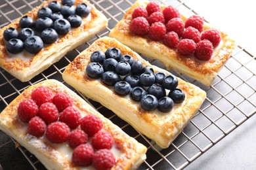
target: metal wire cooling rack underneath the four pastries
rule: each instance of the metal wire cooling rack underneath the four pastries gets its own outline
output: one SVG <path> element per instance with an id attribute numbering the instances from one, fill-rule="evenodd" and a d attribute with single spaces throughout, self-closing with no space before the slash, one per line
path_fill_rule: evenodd
<path id="1" fill-rule="evenodd" d="M 20 82 L 3 69 L 0 69 L 0 112 L 23 90 L 42 80 L 54 78 L 68 86 L 62 79 L 62 72 L 68 63 L 96 39 L 107 36 L 110 29 L 121 20 L 125 11 L 134 2 L 135 0 L 91 0 L 91 3 L 108 18 L 108 27 L 95 35 L 90 41 L 68 52 L 64 58 L 32 80 Z M 42 0 L 1 0 L 0 27 L 10 24 L 13 20 L 41 3 Z M 167 3 L 167 1 L 161 0 L 161 3 Z M 168 2 L 168 4 L 177 7 L 182 13 L 192 12 L 196 14 L 184 1 L 174 0 Z M 164 68 L 157 60 L 144 58 L 150 63 Z M 209 87 L 203 86 L 196 80 L 181 75 L 177 71 L 170 70 L 171 73 L 205 90 L 207 98 L 188 126 L 182 130 L 179 137 L 173 141 L 169 148 L 163 150 L 154 141 L 141 135 L 117 117 L 111 110 L 88 99 L 79 92 L 77 93 L 96 110 L 112 120 L 114 124 L 121 127 L 128 135 L 135 137 L 137 141 L 147 146 L 147 159 L 140 165 L 139 169 L 182 169 L 255 114 L 256 73 L 253 69 L 255 65 L 255 56 L 245 48 L 238 46 Z M 74 90 L 72 87 L 68 87 Z M 15 168 L 45 169 L 40 161 L 26 148 L 18 146 L 11 137 L 0 131 L 0 169 Z"/>

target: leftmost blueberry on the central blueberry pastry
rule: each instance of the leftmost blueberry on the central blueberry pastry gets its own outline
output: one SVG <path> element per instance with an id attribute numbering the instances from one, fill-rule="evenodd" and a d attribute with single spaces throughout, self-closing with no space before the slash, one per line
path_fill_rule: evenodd
<path id="1" fill-rule="evenodd" d="M 86 67 L 86 73 L 91 78 L 100 78 L 100 76 L 104 73 L 102 65 L 100 63 L 89 63 Z"/>

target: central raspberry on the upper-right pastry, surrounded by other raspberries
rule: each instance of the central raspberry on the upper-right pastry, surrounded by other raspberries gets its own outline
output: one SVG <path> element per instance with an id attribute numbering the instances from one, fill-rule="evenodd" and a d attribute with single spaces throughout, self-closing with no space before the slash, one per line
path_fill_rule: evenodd
<path id="1" fill-rule="evenodd" d="M 184 31 L 184 23 L 181 18 L 173 18 L 166 24 L 167 32 L 175 31 L 181 37 Z"/>

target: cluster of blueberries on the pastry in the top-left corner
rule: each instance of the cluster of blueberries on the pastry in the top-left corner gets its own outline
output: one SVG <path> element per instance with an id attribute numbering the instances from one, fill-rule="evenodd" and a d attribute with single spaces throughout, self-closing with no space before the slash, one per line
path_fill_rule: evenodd
<path id="1" fill-rule="evenodd" d="M 43 43 L 51 44 L 58 39 L 58 35 L 66 35 L 71 27 L 79 27 L 81 17 L 87 16 L 91 9 L 85 3 L 77 7 L 74 4 L 74 0 L 62 0 L 63 6 L 58 1 L 52 1 L 48 7 L 38 10 L 35 22 L 30 16 L 23 16 L 19 22 L 20 33 L 13 27 L 5 29 L 3 33 L 8 41 L 7 51 L 17 54 L 25 49 L 37 54 L 43 48 Z"/>

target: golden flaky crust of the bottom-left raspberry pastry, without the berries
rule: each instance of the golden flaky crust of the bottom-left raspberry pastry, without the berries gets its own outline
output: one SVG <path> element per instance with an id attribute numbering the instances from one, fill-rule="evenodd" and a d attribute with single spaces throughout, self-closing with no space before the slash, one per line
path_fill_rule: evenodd
<path id="1" fill-rule="evenodd" d="M 24 99 L 31 98 L 32 91 L 39 86 L 47 86 L 53 93 L 64 92 L 70 95 L 74 101 L 74 107 L 81 112 L 82 117 L 87 114 L 95 114 L 101 118 L 104 124 L 102 128 L 112 134 L 115 147 L 121 152 L 116 165 L 112 169 L 135 169 L 146 159 L 146 147 L 144 145 L 138 143 L 133 137 L 129 137 L 62 83 L 57 80 L 45 80 L 24 90 L 1 112 L 0 129 L 26 147 L 32 154 L 35 154 L 47 169 L 80 169 L 81 167 L 77 167 L 72 163 L 70 154 L 67 155 L 67 153 L 62 152 L 64 150 L 63 147 L 70 149 L 67 144 L 53 144 L 47 139 L 28 135 L 27 124 L 21 122 L 20 118 L 18 118 L 17 109 L 19 103 Z M 62 147 L 61 151 L 58 150 L 58 148 L 61 148 L 60 146 Z"/>

